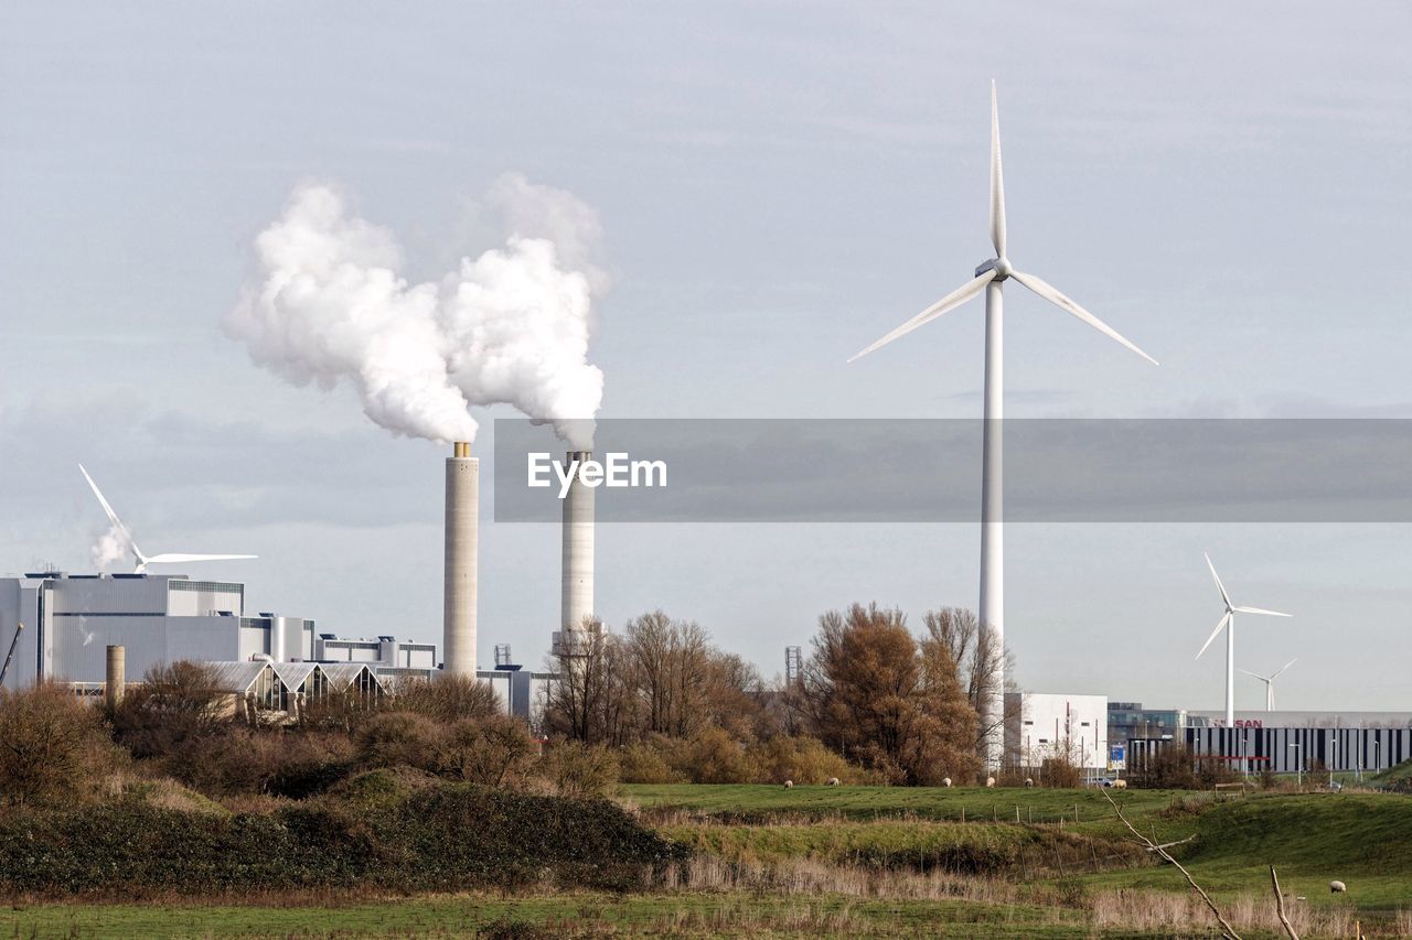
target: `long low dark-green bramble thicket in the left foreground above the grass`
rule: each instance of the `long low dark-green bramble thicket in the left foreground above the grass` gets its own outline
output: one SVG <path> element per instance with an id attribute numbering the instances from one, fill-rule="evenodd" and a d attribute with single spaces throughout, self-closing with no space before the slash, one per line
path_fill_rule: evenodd
<path id="1" fill-rule="evenodd" d="M 8 895 L 465 891 L 545 878 L 621 891 L 685 854 L 606 800 L 463 783 L 411 789 L 369 814 L 328 800 L 220 814 L 127 799 L 0 817 Z"/>

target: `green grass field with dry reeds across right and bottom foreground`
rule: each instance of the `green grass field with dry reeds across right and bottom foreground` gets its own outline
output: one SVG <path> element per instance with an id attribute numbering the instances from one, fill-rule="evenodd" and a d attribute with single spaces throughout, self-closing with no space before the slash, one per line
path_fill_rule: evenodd
<path id="1" fill-rule="evenodd" d="M 1412 933 L 1412 799 L 1113 793 L 1243 936 L 1276 936 L 1269 864 L 1300 936 Z M 273 905 L 13 905 L 0 936 L 1216 936 L 1097 790 L 626 786 L 695 860 L 641 895 L 556 892 Z M 1017 824 L 1017 807 L 1018 819 Z M 964 823 L 962 819 L 964 817 Z M 1031 821 L 1032 820 L 1032 821 Z M 1348 893 L 1330 895 L 1332 878 Z"/>

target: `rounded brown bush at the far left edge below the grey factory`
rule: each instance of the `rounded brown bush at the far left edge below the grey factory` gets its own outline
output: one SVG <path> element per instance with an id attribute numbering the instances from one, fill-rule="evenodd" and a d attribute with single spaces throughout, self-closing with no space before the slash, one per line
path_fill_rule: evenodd
<path id="1" fill-rule="evenodd" d="M 69 803 L 116 766 L 99 713 L 68 689 L 0 690 L 0 803 Z"/>

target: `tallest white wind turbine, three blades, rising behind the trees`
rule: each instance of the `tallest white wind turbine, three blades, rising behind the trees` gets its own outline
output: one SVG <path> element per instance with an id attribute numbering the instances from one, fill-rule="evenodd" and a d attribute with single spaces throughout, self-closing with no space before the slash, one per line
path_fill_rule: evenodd
<path id="1" fill-rule="evenodd" d="M 1123 346 L 1148 360 L 1154 366 L 1156 360 L 1144 353 L 1118 335 L 1117 330 L 1100 320 L 1097 316 L 1083 309 L 1072 299 L 1059 292 L 1053 285 L 1035 277 L 1017 271 L 1010 264 L 1005 254 L 1005 182 L 1000 168 L 1000 109 L 995 100 L 995 82 L 990 83 L 990 241 L 995 248 L 995 257 L 976 268 L 976 278 L 956 288 L 936 303 L 931 305 L 907 323 L 864 349 L 849 361 L 854 361 L 868 353 L 887 346 L 892 340 L 905 336 L 931 323 L 942 313 L 956 309 L 981 291 L 986 291 L 986 405 L 981 443 L 981 497 L 980 497 L 980 624 L 990 631 L 997 651 L 997 676 L 994 687 L 981 701 L 981 727 L 986 728 L 986 759 L 991 766 L 998 766 L 1004 752 L 1001 716 L 1004 714 L 1004 675 L 1000 675 L 998 665 L 1004 656 L 1005 644 L 1005 549 L 1004 549 L 1004 483 L 1003 483 L 1003 454 L 1001 454 L 1001 418 L 1004 416 L 1004 303 L 1001 288 L 1010 278 L 1019 281 L 1043 299 L 1049 301 L 1065 313 L 1083 320 L 1104 336 L 1117 340 Z"/>

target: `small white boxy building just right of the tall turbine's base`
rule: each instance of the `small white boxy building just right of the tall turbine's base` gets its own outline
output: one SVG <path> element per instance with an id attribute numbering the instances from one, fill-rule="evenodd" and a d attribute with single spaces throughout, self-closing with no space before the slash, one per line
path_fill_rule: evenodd
<path id="1" fill-rule="evenodd" d="M 1089 771 L 1108 766 L 1108 697 L 1007 692 L 1005 759 L 1038 766 L 1063 757 Z"/>

